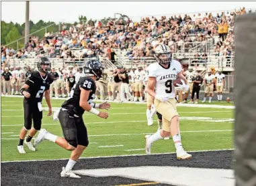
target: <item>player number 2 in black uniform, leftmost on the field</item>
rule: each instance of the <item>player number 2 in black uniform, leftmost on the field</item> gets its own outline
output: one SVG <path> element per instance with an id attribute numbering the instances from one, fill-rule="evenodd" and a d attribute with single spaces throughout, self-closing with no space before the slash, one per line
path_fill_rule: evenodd
<path id="1" fill-rule="evenodd" d="M 31 151 L 36 151 L 31 143 L 31 139 L 38 130 L 41 129 L 42 124 L 42 98 L 45 96 L 48 104 L 48 116 L 52 114 L 52 106 L 50 104 L 50 84 L 53 82 L 50 72 L 50 62 L 48 58 L 40 58 L 38 62 L 38 71 L 34 71 L 28 75 L 24 86 L 20 92 L 24 95 L 24 127 L 19 133 L 19 144 L 17 150 L 19 153 L 26 153 L 24 151 L 23 143 L 28 130 L 30 130 L 25 144 Z M 33 120 L 33 127 L 32 127 Z"/>

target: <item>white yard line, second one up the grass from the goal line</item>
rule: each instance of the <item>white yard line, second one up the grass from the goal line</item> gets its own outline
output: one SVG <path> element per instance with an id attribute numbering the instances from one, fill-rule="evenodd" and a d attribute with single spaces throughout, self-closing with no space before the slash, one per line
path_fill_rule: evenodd
<path id="1" fill-rule="evenodd" d="M 181 117 L 179 120 L 205 120 L 205 119 L 209 119 L 208 117 Z M 210 118 L 210 119 L 218 119 L 218 118 Z M 157 120 L 154 120 L 155 122 L 157 122 Z M 208 120 L 212 121 L 212 120 Z M 130 120 L 130 121 L 107 121 L 107 122 L 87 122 L 85 124 L 102 124 L 102 123 L 122 123 L 122 122 L 147 122 L 147 120 Z M 44 123 L 44 125 L 56 125 L 59 123 Z M 2 124 L 0 126 L 23 126 L 24 124 Z"/>

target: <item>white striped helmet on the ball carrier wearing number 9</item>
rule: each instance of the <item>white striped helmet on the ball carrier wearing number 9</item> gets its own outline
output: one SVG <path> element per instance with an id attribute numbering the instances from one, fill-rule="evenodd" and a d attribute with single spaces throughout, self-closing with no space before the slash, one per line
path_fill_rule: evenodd
<path id="1" fill-rule="evenodd" d="M 159 64 L 171 64 L 171 49 L 169 46 L 161 44 L 158 45 L 157 48 L 154 50 L 155 58 Z"/>

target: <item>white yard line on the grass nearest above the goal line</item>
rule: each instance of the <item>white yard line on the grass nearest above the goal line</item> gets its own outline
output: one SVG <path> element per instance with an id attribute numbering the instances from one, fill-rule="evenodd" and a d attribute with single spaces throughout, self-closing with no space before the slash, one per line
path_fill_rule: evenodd
<path id="1" fill-rule="evenodd" d="M 233 129 L 226 130 L 191 130 L 191 131 L 181 131 L 181 133 L 191 133 L 191 132 L 228 132 L 233 131 Z M 136 135 L 144 135 L 144 134 L 152 134 L 151 133 L 134 133 L 134 134 L 95 134 L 88 135 L 89 137 L 97 137 L 97 136 L 136 136 Z M 19 135 L 10 135 L 10 136 L 19 136 Z"/>

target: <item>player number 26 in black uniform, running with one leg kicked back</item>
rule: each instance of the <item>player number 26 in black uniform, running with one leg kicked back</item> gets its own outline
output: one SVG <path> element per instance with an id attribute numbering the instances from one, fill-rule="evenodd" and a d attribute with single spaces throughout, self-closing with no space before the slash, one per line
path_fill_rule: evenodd
<path id="1" fill-rule="evenodd" d="M 89 144 L 87 128 L 82 117 L 85 110 L 100 118 L 108 118 L 108 112 L 99 112 L 95 108 L 108 109 L 110 104 L 108 102 L 101 104 L 92 102 L 95 98 L 95 81 L 102 77 L 102 70 L 103 67 L 98 60 L 90 60 L 85 63 L 83 67 L 85 76 L 82 76 L 71 90 L 71 98 L 62 104 L 60 110 L 54 112 L 54 119 L 60 120 L 64 138 L 42 129 L 35 140 L 35 146 L 46 139 L 63 149 L 73 151 L 67 166 L 62 167 L 61 177 L 79 178 L 71 169 Z"/>

